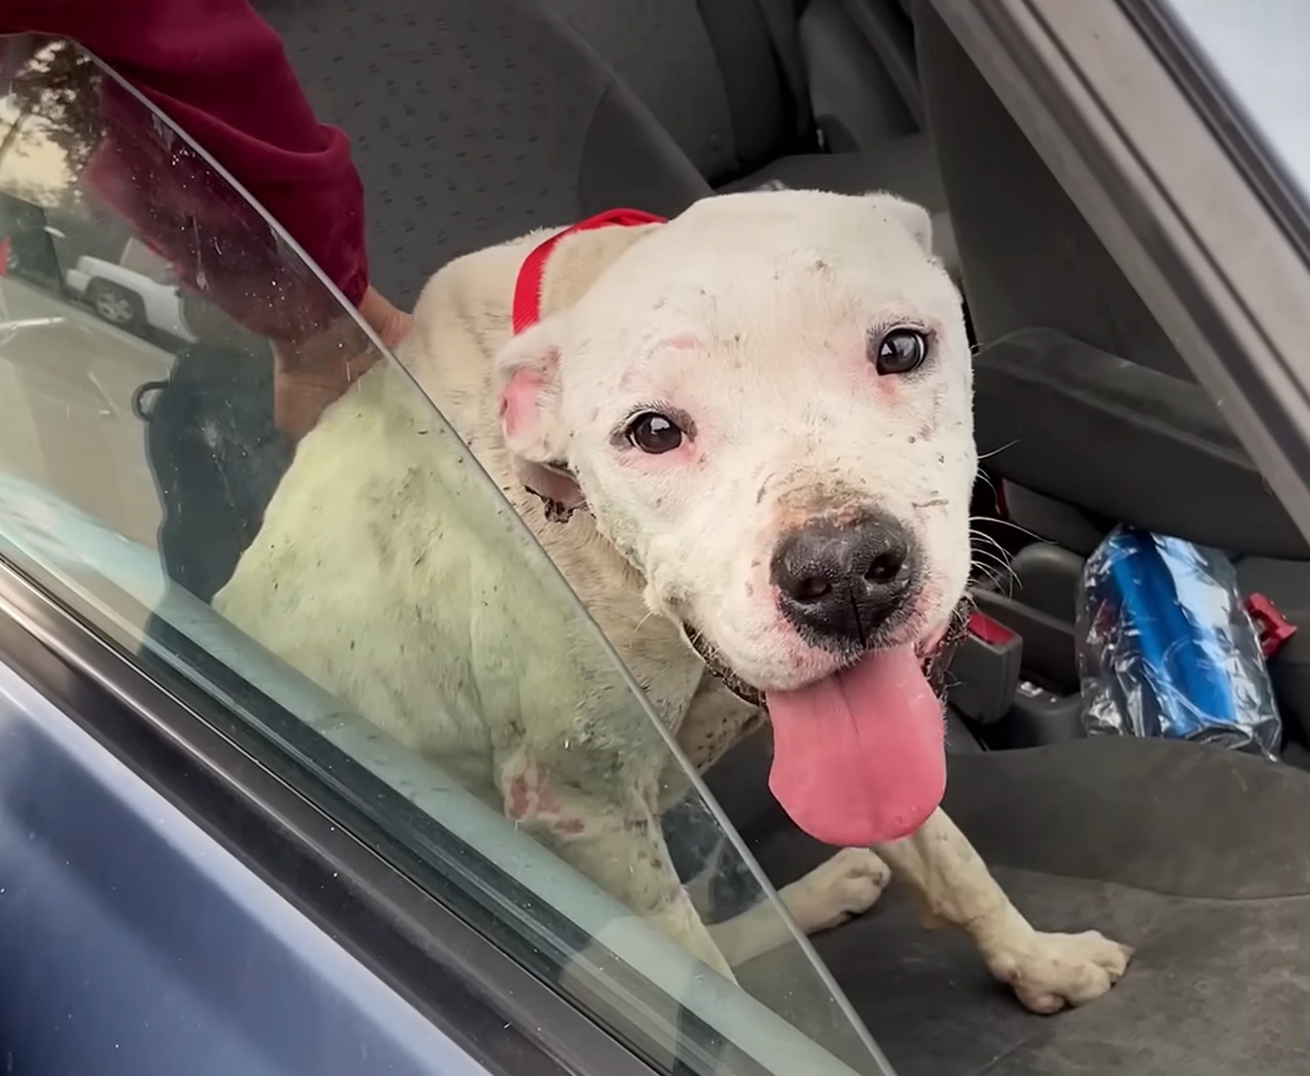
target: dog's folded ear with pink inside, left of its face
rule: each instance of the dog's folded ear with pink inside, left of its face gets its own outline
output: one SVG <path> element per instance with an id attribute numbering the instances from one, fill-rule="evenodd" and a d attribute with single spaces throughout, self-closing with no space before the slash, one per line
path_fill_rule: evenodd
<path id="1" fill-rule="evenodd" d="M 567 469 L 569 431 L 559 401 L 563 315 L 537 322 L 510 339 L 496 359 L 500 433 L 524 487 L 545 501 L 548 514 L 582 504 Z"/>

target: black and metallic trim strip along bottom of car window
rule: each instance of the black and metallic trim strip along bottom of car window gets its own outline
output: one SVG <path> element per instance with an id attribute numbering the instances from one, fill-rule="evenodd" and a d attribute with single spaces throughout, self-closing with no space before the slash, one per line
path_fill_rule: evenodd
<path id="1" fill-rule="evenodd" d="M 655 1072 L 3 562 L 0 661 L 491 1071 Z"/>

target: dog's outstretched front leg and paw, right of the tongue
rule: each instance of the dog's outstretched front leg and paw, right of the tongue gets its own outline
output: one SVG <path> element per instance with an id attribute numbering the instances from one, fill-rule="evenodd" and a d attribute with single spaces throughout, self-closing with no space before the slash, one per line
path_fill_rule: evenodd
<path id="1" fill-rule="evenodd" d="M 988 970 L 1034 1012 L 1082 1005 L 1124 974 L 1132 949 L 1096 931 L 1043 933 L 1019 914 L 982 857 L 942 810 L 913 836 L 878 847 L 921 899 L 926 925 L 947 923 L 977 944 Z"/>

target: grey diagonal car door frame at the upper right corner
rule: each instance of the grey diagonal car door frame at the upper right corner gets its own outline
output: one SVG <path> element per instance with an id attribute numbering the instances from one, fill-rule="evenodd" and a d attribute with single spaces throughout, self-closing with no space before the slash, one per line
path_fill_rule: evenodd
<path id="1" fill-rule="evenodd" d="M 1149 0 L 921 3 L 942 16 L 1310 534 L 1305 249 L 1196 84 L 1167 62 L 1163 38 L 1149 35 Z"/>

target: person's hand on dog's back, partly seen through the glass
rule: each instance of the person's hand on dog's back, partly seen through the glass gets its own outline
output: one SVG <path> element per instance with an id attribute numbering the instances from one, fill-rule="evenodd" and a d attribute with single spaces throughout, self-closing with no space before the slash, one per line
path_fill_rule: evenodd
<path id="1" fill-rule="evenodd" d="M 389 348 L 397 347 L 413 325 L 409 314 L 373 288 L 360 300 L 359 315 Z M 293 441 L 313 429 L 322 412 L 380 357 L 347 318 L 303 343 L 274 344 L 272 352 L 274 420 Z"/>

